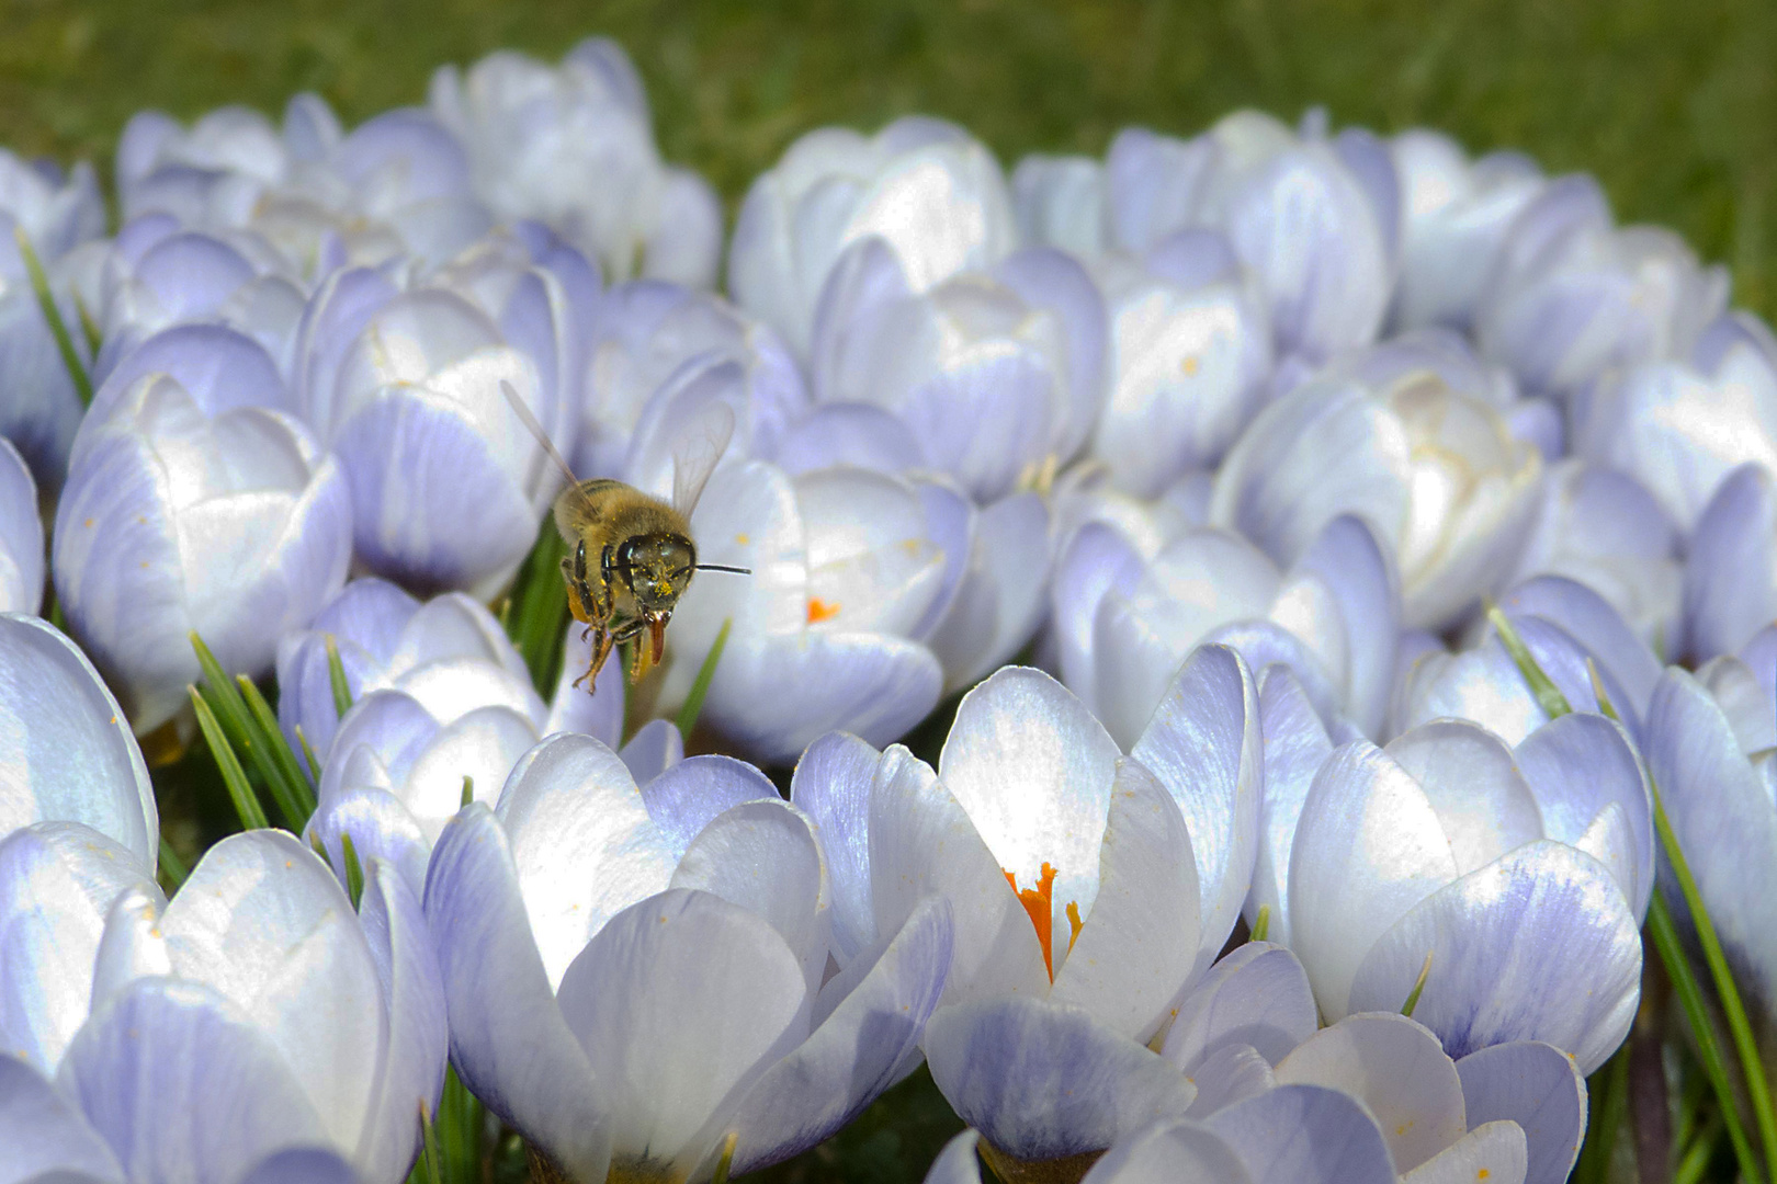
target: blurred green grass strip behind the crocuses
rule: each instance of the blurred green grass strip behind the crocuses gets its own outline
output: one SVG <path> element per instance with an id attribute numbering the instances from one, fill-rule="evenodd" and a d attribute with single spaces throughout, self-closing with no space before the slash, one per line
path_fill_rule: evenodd
<path id="1" fill-rule="evenodd" d="M 416 103 L 439 62 L 554 57 L 602 32 L 636 59 L 670 158 L 730 199 L 800 131 L 922 110 L 1008 163 L 1102 153 L 1128 122 L 1189 133 L 1235 107 L 1443 128 L 1589 169 L 1777 307 L 1772 0 L 0 0 L 0 144 L 108 162 L 142 107 L 279 112 L 302 89 L 355 122 Z"/>

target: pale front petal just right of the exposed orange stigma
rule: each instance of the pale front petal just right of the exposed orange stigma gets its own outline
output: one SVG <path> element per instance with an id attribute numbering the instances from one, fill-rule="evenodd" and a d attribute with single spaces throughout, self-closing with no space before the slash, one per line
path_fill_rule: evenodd
<path id="1" fill-rule="evenodd" d="M 1120 760 L 1091 914 L 1066 950 L 1061 928 L 1052 930 L 1057 969 L 1050 999 L 1075 1003 L 1136 1040 L 1151 1037 L 1191 975 L 1198 912 L 1185 818 L 1151 772 Z"/>

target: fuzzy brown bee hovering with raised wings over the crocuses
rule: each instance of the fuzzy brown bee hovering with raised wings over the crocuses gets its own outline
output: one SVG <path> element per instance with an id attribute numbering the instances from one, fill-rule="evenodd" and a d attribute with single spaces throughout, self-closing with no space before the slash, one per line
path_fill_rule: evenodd
<path id="1" fill-rule="evenodd" d="M 581 637 L 592 634 L 592 664 L 574 685 L 585 682 L 586 692 L 594 694 L 599 669 L 624 641 L 636 643 L 629 666 L 629 680 L 634 682 L 661 660 L 666 621 L 689 588 L 693 572 L 752 575 L 750 568 L 698 563 L 691 541 L 691 509 L 729 447 L 734 412 L 725 403 L 711 403 L 686 426 L 672 451 L 672 502 L 663 502 L 622 481 L 576 478 L 512 383 L 501 382 L 499 387 L 519 421 L 567 478 L 567 490 L 554 504 L 556 531 L 572 549 L 562 561 L 562 579 L 567 582 L 569 611 L 586 627 Z"/>

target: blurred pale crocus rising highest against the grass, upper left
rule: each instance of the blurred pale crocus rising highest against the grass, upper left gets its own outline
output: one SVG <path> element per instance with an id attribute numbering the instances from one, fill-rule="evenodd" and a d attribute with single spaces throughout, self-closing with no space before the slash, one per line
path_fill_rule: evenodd
<path id="1" fill-rule="evenodd" d="M 556 67 L 512 50 L 467 73 L 441 66 L 430 103 L 496 215 L 544 222 L 611 279 L 714 284 L 721 204 L 661 162 L 641 78 L 615 41 L 588 37 Z"/>

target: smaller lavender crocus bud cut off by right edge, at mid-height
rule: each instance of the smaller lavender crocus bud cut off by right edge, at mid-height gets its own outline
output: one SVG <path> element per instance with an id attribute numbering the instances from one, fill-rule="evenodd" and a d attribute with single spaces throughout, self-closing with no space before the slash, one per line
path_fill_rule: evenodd
<path id="1" fill-rule="evenodd" d="M 1777 490 L 1761 465 L 1717 486 L 1685 556 L 1685 648 L 1695 660 L 1736 653 L 1777 621 Z"/>

